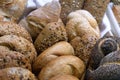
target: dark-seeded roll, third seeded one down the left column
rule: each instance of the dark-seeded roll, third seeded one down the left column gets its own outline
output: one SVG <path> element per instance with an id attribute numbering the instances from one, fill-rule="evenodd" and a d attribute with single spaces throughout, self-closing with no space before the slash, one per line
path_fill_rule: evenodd
<path id="1" fill-rule="evenodd" d="M 23 54 L 0 46 L 0 69 L 9 67 L 23 67 L 31 70 L 29 60 Z"/>

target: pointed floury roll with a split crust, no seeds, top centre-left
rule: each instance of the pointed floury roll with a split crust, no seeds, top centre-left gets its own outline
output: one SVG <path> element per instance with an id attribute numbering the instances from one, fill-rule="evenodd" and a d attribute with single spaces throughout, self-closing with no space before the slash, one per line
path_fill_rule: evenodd
<path id="1" fill-rule="evenodd" d="M 58 1 L 53 0 L 52 2 L 46 4 L 32 11 L 27 16 L 27 21 L 29 23 L 29 28 L 32 29 L 33 39 L 35 39 L 38 34 L 43 30 L 43 28 L 50 22 L 57 22 L 60 17 L 61 6 Z"/>

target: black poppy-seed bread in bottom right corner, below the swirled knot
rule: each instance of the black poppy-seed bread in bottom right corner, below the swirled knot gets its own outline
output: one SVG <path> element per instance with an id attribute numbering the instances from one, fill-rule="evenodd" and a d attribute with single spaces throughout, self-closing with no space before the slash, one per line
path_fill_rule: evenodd
<path id="1" fill-rule="evenodd" d="M 95 70 L 87 72 L 86 80 L 119 80 L 120 79 L 120 51 L 111 52 L 100 62 Z"/>

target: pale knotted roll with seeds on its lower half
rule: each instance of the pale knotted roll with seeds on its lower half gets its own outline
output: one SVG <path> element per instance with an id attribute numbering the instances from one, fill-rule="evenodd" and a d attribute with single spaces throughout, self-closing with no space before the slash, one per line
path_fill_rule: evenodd
<path id="1" fill-rule="evenodd" d="M 100 38 L 96 20 L 89 12 L 84 10 L 71 12 L 68 15 L 66 31 L 68 40 L 75 50 L 75 55 L 87 64 L 91 50 L 96 41 Z"/>

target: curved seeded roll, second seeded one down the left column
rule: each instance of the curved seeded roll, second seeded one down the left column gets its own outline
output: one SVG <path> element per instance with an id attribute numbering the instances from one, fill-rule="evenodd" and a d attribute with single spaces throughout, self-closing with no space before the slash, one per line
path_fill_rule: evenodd
<path id="1" fill-rule="evenodd" d="M 29 59 L 30 63 L 32 63 L 37 56 L 33 44 L 25 38 L 18 37 L 16 35 L 4 35 L 0 37 L 0 45 L 22 53 Z"/>

